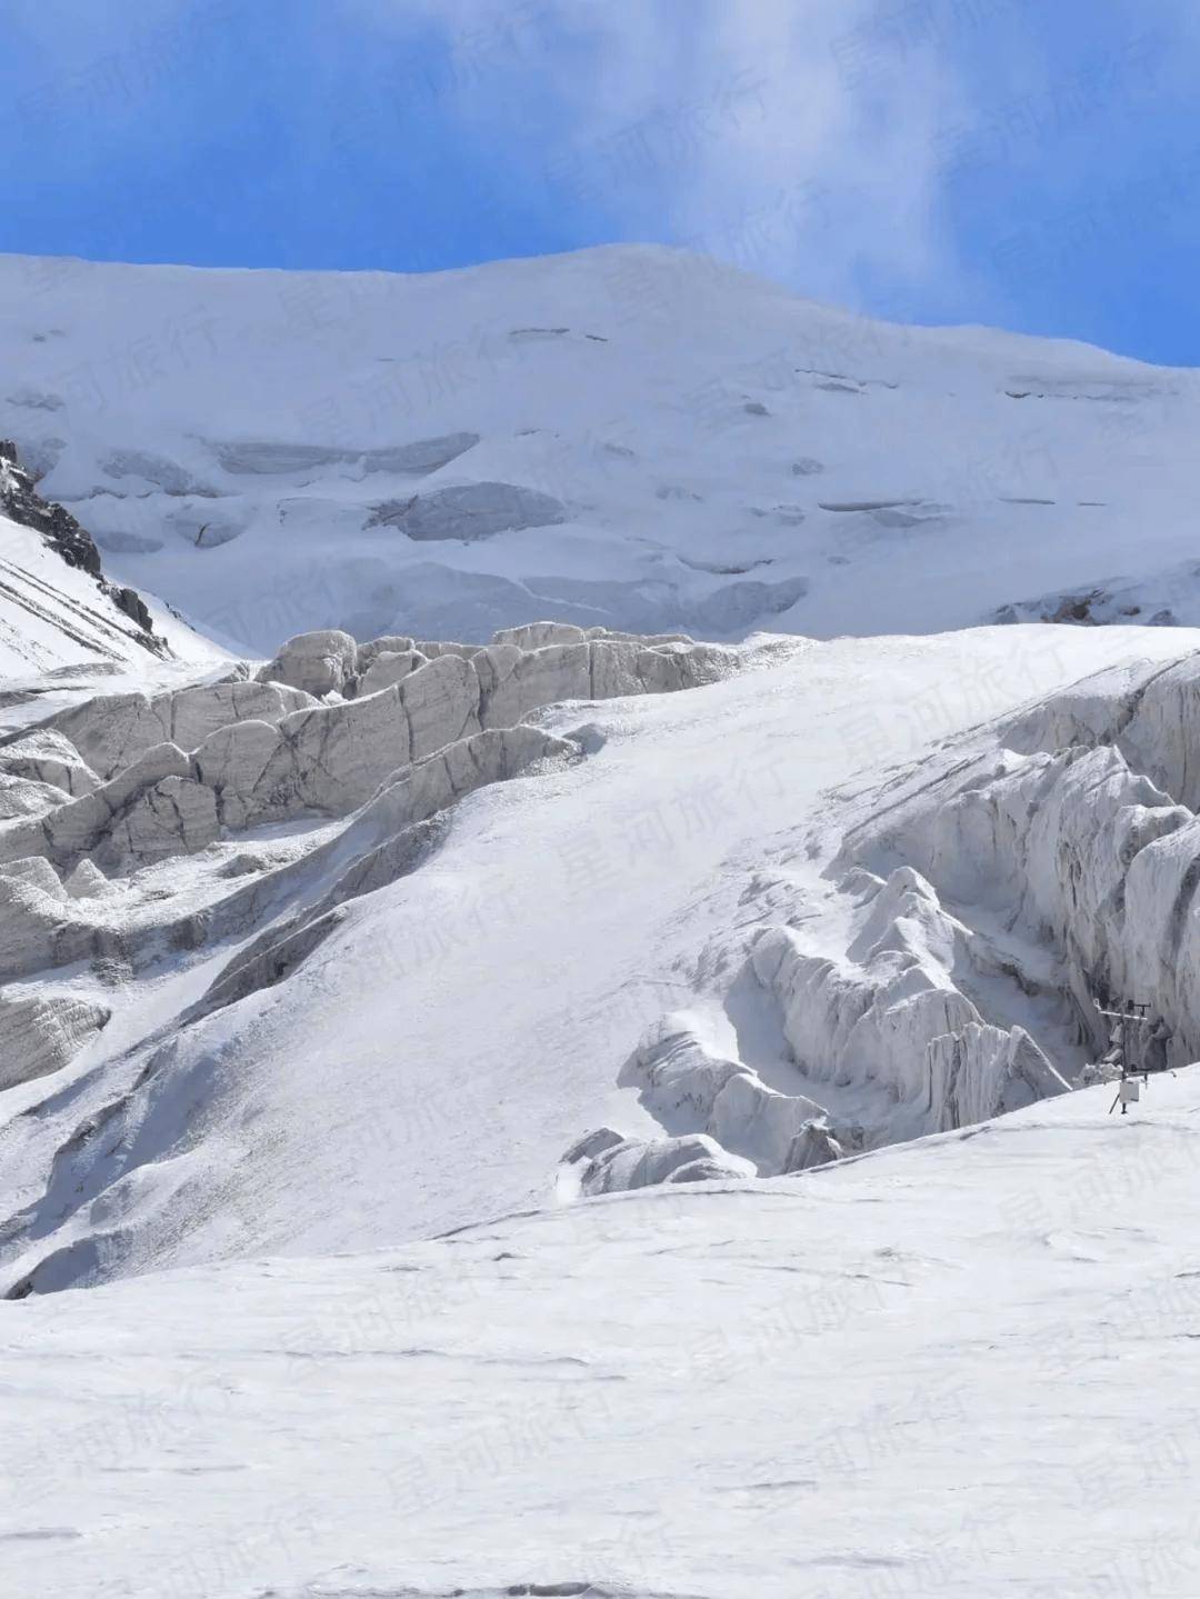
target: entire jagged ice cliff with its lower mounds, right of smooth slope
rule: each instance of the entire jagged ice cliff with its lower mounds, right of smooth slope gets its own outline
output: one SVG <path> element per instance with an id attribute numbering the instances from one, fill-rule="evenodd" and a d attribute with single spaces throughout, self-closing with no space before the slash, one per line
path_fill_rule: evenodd
<path id="1" fill-rule="evenodd" d="M 805 1092 L 769 1087 L 668 1015 L 620 1081 L 670 1135 L 582 1140 L 567 1156 L 582 1191 L 745 1161 L 791 1174 L 1019 1110 L 1099 1059 L 1106 998 L 1149 1006 L 1170 1062 L 1194 1060 L 1197 752 L 1189 654 L 1087 678 L 860 796 L 823 900 L 741 945 Z"/>

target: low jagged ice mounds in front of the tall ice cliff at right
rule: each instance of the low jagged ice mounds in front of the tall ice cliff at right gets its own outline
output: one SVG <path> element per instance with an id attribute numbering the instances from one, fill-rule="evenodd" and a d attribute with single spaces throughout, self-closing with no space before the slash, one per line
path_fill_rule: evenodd
<path id="1" fill-rule="evenodd" d="M 884 881 L 855 871 L 839 887 L 864 908 L 848 950 L 815 953 L 796 929 L 769 926 L 748 959 L 812 1097 L 769 1087 L 745 1062 L 714 1055 L 701 1025 L 668 1015 L 649 1028 L 618 1081 L 638 1087 L 665 1126 L 695 1130 L 620 1146 L 610 1129 L 588 1135 L 566 1154 L 585 1194 L 793 1175 L 1069 1091 L 1023 1027 L 991 1025 L 959 987 L 964 969 L 994 975 L 997 955 L 943 910 L 919 873 L 901 868 Z M 831 1115 L 825 1087 L 834 1102 L 839 1091 L 871 1091 L 872 1122 Z"/>

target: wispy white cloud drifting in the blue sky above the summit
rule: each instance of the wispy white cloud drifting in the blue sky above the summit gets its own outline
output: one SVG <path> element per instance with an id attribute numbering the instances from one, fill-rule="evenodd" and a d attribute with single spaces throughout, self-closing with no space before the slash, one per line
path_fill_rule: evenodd
<path id="1" fill-rule="evenodd" d="M 562 203 L 695 243 L 817 297 L 951 286 L 941 136 L 972 107 L 938 8 L 876 0 L 361 0 L 444 29 L 457 109 L 505 160 L 553 134 Z M 874 21 L 872 21 L 874 19 Z M 943 18 L 944 21 L 944 18 Z"/>

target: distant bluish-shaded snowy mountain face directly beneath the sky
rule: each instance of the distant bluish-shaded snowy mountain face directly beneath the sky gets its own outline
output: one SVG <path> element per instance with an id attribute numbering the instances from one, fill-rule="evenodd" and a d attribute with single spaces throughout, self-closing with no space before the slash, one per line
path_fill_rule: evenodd
<path id="1" fill-rule="evenodd" d="M 682 253 L 431 277 L 0 261 L 0 435 L 121 582 L 267 652 L 543 616 L 1200 622 L 1200 385 Z"/>

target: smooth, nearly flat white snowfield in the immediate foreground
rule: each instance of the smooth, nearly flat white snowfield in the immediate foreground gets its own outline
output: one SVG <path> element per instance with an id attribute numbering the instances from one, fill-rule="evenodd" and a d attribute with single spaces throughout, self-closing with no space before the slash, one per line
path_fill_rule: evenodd
<path id="1" fill-rule="evenodd" d="M 1194 1599 L 1200 1081 L 1111 1099 L 0 1305 L 0 1588 Z"/>

